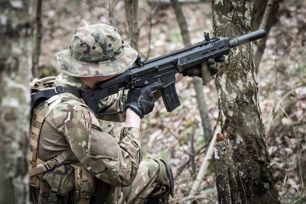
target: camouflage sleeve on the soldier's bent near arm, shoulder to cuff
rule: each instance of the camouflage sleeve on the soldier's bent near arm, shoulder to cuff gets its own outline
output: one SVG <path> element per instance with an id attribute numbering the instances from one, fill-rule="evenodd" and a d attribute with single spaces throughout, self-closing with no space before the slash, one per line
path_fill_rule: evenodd
<path id="1" fill-rule="evenodd" d="M 62 102 L 53 113 L 58 131 L 65 135 L 76 158 L 88 171 L 113 186 L 132 183 L 141 158 L 140 130 L 122 128 L 117 142 L 80 102 Z"/>

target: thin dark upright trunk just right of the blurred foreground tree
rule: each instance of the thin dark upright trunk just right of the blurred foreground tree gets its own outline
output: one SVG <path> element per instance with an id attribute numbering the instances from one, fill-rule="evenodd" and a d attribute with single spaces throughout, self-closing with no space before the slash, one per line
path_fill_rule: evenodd
<path id="1" fill-rule="evenodd" d="M 35 48 L 34 48 L 34 56 L 33 56 L 33 66 L 32 66 L 32 72 L 34 78 L 40 79 L 40 73 L 39 73 L 39 55 L 40 55 L 40 43 L 41 43 L 41 11 L 42 11 L 42 4 L 43 0 L 37 0 L 36 5 L 36 38 L 35 38 Z"/>

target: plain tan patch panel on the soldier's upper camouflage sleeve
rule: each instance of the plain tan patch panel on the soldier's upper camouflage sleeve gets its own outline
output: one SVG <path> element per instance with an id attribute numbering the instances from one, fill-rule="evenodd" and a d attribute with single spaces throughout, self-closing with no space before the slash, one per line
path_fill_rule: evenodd
<path id="1" fill-rule="evenodd" d="M 91 127 L 88 135 L 87 156 L 94 158 L 108 158 L 115 161 L 119 160 L 119 145 L 116 139 L 97 126 L 98 119 L 92 114 Z M 99 122 L 98 122 L 99 125 Z"/>

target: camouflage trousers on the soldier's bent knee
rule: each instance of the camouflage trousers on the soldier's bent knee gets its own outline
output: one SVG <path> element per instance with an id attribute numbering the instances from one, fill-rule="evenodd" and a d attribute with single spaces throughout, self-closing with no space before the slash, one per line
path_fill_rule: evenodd
<path id="1" fill-rule="evenodd" d="M 158 187 L 160 187 L 160 189 L 154 194 L 151 194 L 158 183 Z M 146 159 L 140 162 L 138 173 L 131 185 L 127 187 L 115 188 L 111 203 L 146 203 L 149 196 L 155 197 L 156 195 L 162 195 L 161 199 L 163 203 L 168 203 L 169 194 L 170 179 L 165 163 L 159 159 Z"/>

